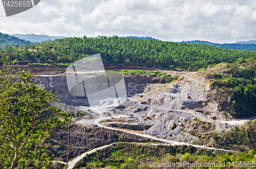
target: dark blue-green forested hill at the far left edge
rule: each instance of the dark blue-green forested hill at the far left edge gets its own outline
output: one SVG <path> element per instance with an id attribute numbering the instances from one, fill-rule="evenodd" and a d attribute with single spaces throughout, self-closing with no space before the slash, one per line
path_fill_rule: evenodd
<path id="1" fill-rule="evenodd" d="M 9 36 L 7 34 L 0 33 L 0 49 L 5 48 L 6 46 L 24 46 L 25 44 L 32 45 L 34 43 L 26 41 L 24 39 L 19 39 L 14 36 Z"/>

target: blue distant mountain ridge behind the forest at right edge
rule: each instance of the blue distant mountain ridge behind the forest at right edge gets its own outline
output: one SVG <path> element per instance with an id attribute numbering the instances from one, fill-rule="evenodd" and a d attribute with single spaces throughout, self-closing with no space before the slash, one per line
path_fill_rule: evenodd
<path id="1" fill-rule="evenodd" d="M 248 41 L 250 42 L 250 41 Z M 247 42 L 247 43 L 248 43 Z M 195 41 L 182 41 L 181 43 L 204 43 L 206 45 L 210 46 L 217 46 L 221 48 L 227 48 L 227 49 L 240 49 L 240 50 L 256 50 L 256 44 L 247 44 L 246 42 L 240 43 L 212 43 L 208 41 L 200 41 L 200 40 L 195 40 Z"/>

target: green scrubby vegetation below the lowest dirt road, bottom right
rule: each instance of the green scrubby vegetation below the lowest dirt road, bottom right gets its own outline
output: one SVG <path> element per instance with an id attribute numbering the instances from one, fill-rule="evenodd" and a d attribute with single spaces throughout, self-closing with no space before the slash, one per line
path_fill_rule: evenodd
<path id="1" fill-rule="evenodd" d="M 152 168 L 150 161 L 156 163 L 177 163 L 183 161 L 200 163 L 230 164 L 233 161 L 255 161 L 256 151 L 242 153 L 230 153 L 216 150 L 199 149 L 191 146 L 164 146 L 164 145 L 136 145 L 119 143 L 97 153 L 87 155 L 80 160 L 74 168 L 90 166 L 91 168 L 110 167 L 116 169 Z M 157 167 L 153 167 L 157 168 Z M 190 167 L 188 167 L 190 168 Z M 200 167 L 198 167 L 200 168 Z M 201 167 L 204 168 L 204 167 Z"/>

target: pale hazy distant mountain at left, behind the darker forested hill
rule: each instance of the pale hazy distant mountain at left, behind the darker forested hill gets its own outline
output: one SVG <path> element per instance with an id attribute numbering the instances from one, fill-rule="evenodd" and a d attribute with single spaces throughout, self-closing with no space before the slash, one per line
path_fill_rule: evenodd
<path id="1" fill-rule="evenodd" d="M 13 34 L 12 36 L 15 36 L 20 39 L 25 39 L 31 42 L 42 42 L 42 41 L 48 41 L 48 40 L 54 40 L 54 39 L 64 39 L 67 37 L 64 36 L 47 36 L 47 35 L 35 35 L 35 34 Z"/>

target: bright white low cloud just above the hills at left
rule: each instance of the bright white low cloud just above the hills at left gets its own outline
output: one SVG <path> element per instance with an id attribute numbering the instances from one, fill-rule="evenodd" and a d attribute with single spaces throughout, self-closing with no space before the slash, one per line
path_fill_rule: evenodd
<path id="1" fill-rule="evenodd" d="M 80 25 L 69 22 L 64 16 L 44 23 L 8 21 L 0 24 L 0 30 L 8 34 L 41 34 L 49 36 L 81 36 L 87 34 Z"/>

